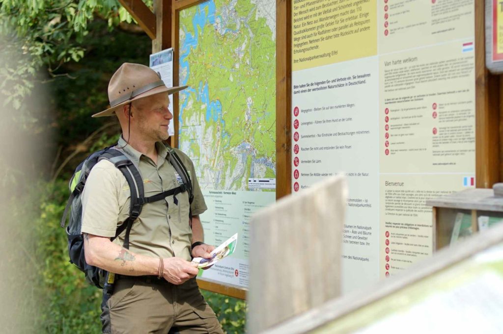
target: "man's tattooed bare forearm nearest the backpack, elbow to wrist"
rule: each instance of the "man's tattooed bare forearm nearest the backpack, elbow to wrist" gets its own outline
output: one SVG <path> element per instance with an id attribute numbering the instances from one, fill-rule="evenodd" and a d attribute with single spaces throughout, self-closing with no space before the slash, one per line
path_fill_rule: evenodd
<path id="1" fill-rule="evenodd" d="M 84 251 L 88 264 L 116 274 L 158 274 L 159 259 L 135 254 L 108 238 L 84 234 Z"/>

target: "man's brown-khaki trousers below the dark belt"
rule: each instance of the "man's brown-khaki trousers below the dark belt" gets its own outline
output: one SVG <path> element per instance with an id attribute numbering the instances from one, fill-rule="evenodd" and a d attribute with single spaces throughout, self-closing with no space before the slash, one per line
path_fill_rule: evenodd
<path id="1" fill-rule="evenodd" d="M 173 285 L 163 280 L 122 277 L 102 309 L 103 333 L 223 334 L 195 278 Z"/>

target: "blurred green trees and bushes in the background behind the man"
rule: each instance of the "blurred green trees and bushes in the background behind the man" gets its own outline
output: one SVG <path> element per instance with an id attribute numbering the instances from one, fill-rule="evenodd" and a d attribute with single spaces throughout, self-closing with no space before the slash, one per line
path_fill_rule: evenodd
<path id="1" fill-rule="evenodd" d="M 110 77 L 150 50 L 116 0 L 0 0 L 2 331 L 101 333 L 101 291 L 68 262 L 59 219 L 73 168 L 118 138 L 114 119 L 90 117 Z M 245 331 L 245 301 L 203 295 L 225 332 Z"/>

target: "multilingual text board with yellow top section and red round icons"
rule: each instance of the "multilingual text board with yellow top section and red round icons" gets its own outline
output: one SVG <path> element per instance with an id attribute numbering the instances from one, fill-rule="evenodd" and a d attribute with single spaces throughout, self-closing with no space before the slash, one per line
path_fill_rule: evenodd
<path id="1" fill-rule="evenodd" d="M 348 292 L 431 256 L 425 200 L 474 186 L 474 1 L 292 6 L 292 192 L 347 176 Z"/>

